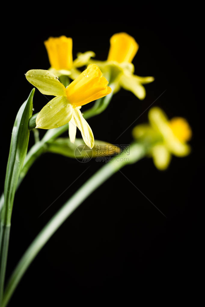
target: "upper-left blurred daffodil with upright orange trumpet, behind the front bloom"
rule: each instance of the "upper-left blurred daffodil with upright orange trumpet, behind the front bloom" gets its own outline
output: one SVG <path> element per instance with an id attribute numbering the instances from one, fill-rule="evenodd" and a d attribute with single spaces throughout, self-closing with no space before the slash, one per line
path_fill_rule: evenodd
<path id="1" fill-rule="evenodd" d="M 71 79 L 76 79 L 81 73 L 77 68 L 84 66 L 91 56 L 95 56 L 95 53 L 92 51 L 78 53 L 77 59 L 73 61 L 72 38 L 64 35 L 60 37 L 49 37 L 44 44 L 51 65 L 49 70 L 58 77 L 65 75 Z"/>

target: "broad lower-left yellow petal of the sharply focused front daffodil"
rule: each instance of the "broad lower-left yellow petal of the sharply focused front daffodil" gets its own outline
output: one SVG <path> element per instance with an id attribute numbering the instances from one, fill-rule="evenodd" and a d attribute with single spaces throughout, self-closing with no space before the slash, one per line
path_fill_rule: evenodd
<path id="1" fill-rule="evenodd" d="M 38 113 L 36 128 L 53 129 L 67 124 L 72 118 L 73 107 L 65 96 L 49 101 Z"/>

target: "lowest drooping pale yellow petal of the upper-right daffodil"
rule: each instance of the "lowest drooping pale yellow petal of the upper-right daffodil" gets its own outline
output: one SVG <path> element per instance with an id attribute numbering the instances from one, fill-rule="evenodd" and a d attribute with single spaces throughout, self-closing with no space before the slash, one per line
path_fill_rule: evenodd
<path id="1" fill-rule="evenodd" d="M 128 91 L 131 91 L 139 99 L 144 99 L 146 91 L 143 85 L 140 84 L 136 76 L 134 75 L 121 75 L 120 85 Z"/>

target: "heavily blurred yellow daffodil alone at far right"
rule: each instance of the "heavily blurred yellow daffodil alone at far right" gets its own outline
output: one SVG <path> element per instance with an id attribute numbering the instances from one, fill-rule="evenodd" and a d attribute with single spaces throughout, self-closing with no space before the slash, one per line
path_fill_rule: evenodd
<path id="1" fill-rule="evenodd" d="M 190 146 L 186 144 L 191 139 L 191 128 L 182 117 L 168 120 L 166 114 L 154 107 L 148 113 L 150 124 L 138 125 L 133 129 L 133 136 L 152 144 L 150 154 L 155 166 L 166 169 L 171 160 L 171 154 L 184 157 L 190 153 Z"/>

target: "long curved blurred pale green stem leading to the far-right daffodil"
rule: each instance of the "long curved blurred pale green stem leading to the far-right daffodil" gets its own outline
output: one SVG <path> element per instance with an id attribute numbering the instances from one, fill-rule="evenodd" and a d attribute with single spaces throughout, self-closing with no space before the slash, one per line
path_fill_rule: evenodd
<path id="1" fill-rule="evenodd" d="M 72 212 L 104 181 L 121 169 L 124 165 L 134 163 L 140 160 L 146 154 L 146 149 L 141 144 L 132 144 L 130 147 L 130 155 L 116 156 L 110 162 L 105 164 L 97 171 L 75 194 L 63 205 L 63 207 L 53 216 L 53 218 L 45 225 L 41 232 L 37 235 L 25 254 L 22 256 L 16 266 L 6 287 L 2 307 L 5 307 L 10 300 L 15 288 L 21 280 L 23 274 L 29 267 L 30 263 L 36 257 L 41 248 L 50 239 L 53 233 L 64 223 L 64 221 L 72 214 Z M 129 159 L 129 161 L 127 160 Z"/>

